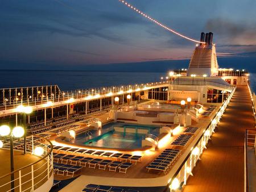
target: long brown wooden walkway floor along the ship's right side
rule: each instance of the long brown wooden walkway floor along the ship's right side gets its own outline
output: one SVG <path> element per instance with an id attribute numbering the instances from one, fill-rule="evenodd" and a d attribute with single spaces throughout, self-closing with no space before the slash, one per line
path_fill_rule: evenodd
<path id="1" fill-rule="evenodd" d="M 243 191 L 244 135 L 254 125 L 249 90 L 238 86 L 183 191 Z"/>

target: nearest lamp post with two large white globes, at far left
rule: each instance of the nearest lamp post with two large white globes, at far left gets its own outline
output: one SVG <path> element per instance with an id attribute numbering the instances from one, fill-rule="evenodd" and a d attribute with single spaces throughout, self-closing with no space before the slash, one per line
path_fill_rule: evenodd
<path id="1" fill-rule="evenodd" d="M 13 152 L 13 137 L 22 137 L 24 135 L 23 127 L 14 127 L 13 130 L 9 126 L 3 125 L 0 127 L 0 136 L 10 136 L 10 161 L 11 161 L 11 191 L 14 192 L 14 152 Z M 0 142 L 0 147 L 3 145 Z"/>

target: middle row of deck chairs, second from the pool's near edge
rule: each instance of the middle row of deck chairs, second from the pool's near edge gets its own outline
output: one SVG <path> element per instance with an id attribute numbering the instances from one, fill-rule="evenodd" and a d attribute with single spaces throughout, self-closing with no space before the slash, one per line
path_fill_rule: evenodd
<path id="1" fill-rule="evenodd" d="M 74 156 L 74 155 L 65 155 L 55 153 L 53 155 L 53 161 L 61 164 L 70 164 L 74 166 L 86 167 L 88 164 L 89 168 L 106 170 L 109 168 L 109 171 L 116 172 L 119 169 L 119 173 L 126 173 L 127 169 L 131 167 L 130 162 L 121 162 L 121 161 L 111 161 L 111 160 L 102 160 L 101 158 L 92 158 L 92 157 L 83 157 L 83 156 Z"/>

